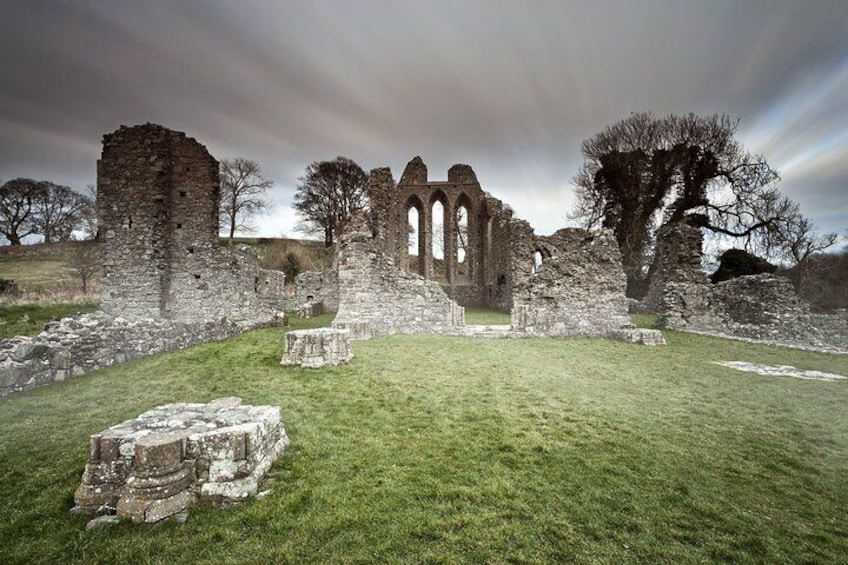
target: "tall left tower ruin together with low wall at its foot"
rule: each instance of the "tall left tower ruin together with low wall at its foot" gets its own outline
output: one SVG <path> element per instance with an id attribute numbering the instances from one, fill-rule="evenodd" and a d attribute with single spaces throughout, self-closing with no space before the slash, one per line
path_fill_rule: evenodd
<path id="1" fill-rule="evenodd" d="M 218 162 L 155 124 L 103 136 L 101 312 L 0 341 L 0 397 L 129 359 L 285 325 L 282 272 L 218 244 Z"/>

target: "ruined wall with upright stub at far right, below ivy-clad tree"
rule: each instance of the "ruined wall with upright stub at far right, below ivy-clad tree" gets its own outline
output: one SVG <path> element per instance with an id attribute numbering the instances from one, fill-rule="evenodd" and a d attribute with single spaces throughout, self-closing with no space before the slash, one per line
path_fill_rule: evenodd
<path id="1" fill-rule="evenodd" d="M 792 283 L 777 275 L 747 275 L 712 284 L 701 270 L 702 243 L 696 222 L 660 230 L 642 311 L 660 315 L 672 329 L 846 350 L 848 312 L 811 313 Z"/>

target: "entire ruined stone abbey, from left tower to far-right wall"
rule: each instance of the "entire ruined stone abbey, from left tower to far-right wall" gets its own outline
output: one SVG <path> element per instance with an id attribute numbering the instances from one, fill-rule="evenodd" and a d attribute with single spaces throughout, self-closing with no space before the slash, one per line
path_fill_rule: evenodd
<path id="1" fill-rule="evenodd" d="M 487 306 L 511 313 L 511 325 L 487 337 L 662 343 L 659 332 L 633 329 L 609 231 L 536 235 L 468 165 L 452 166 L 445 180 L 432 180 L 420 157 L 399 181 L 388 168 L 372 170 L 370 212 L 346 226 L 337 268 L 302 273 L 289 285 L 283 273 L 259 268 L 249 248 L 220 247 L 218 162 L 196 140 L 155 124 L 122 126 L 104 135 L 97 170 L 101 312 L 0 342 L 0 397 L 280 325 L 284 311 L 335 312 L 333 328 L 350 339 L 475 335 L 464 308 Z M 699 228 L 685 222 L 659 234 L 643 311 L 673 329 L 845 350 L 848 313 L 812 314 L 772 276 L 711 285 L 701 245 Z"/>

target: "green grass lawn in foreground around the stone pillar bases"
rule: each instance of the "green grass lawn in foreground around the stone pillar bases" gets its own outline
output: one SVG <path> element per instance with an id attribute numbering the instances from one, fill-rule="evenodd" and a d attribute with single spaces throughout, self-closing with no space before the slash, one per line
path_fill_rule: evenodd
<path id="1" fill-rule="evenodd" d="M 329 317 L 294 320 L 296 327 Z M 0 563 L 844 563 L 848 357 L 666 332 L 392 336 L 278 365 L 269 329 L 0 401 Z M 269 497 L 85 533 L 88 436 L 153 406 L 283 408 Z"/>

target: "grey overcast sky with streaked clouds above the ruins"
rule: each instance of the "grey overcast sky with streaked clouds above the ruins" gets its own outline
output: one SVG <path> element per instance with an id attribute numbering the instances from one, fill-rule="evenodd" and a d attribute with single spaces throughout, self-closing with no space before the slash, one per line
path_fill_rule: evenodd
<path id="1" fill-rule="evenodd" d="M 823 229 L 848 228 L 848 1 L 0 0 L 0 179 L 82 189 L 103 134 L 154 122 L 276 183 L 308 163 L 399 179 L 471 165 L 539 234 L 580 143 L 634 111 L 739 116 Z"/>

